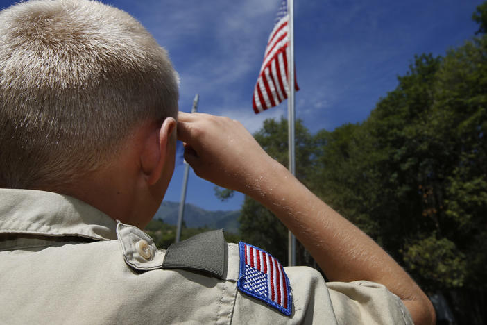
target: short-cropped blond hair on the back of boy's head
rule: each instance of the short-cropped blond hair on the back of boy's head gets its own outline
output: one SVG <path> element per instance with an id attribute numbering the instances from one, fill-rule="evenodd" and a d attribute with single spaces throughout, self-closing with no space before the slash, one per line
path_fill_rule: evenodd
<path id="1" fill-rule="evenodd" d="M 0 188 L 71 183 L 146 121 L 176 117 L 166 51 L 126 12 L 40 0 L 0 12 Z"/>

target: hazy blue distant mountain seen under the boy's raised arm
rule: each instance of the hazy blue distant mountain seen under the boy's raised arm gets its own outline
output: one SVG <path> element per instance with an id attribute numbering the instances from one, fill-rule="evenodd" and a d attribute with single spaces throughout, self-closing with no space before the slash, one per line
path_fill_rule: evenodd
<path id="1" fill-rule="evenodd" d="M 166 224 L 177 224 L 178 212 L 178 202 L 164 201 L 153 219 L 161 219 Z M 237 220 L 239 215 L 240 210 L 208 211 L 194 204 L 187 203 L 185 205 L 183 221 L 190 228 L 207 226 L 214 229 L 223 228 L 228 233 L 237 233 L 239 231 L 239 221 Z"/>

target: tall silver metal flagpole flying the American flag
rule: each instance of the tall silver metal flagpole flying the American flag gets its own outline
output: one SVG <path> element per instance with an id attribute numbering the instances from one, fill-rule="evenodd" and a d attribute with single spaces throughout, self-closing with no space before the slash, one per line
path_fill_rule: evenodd
<path id="1" fill-rule="evenodd" d="M 296 175 L 295 141 L 294 141 L 294 1 L 287 0 L 289 12 L 289 57 L 287 71 L 289 72 L 289 98 L 287 99 L 288 143 L 289 143 L 289 172 Z M 296 238 L 288 231 L 288 263 L 296 265 Z"/>

